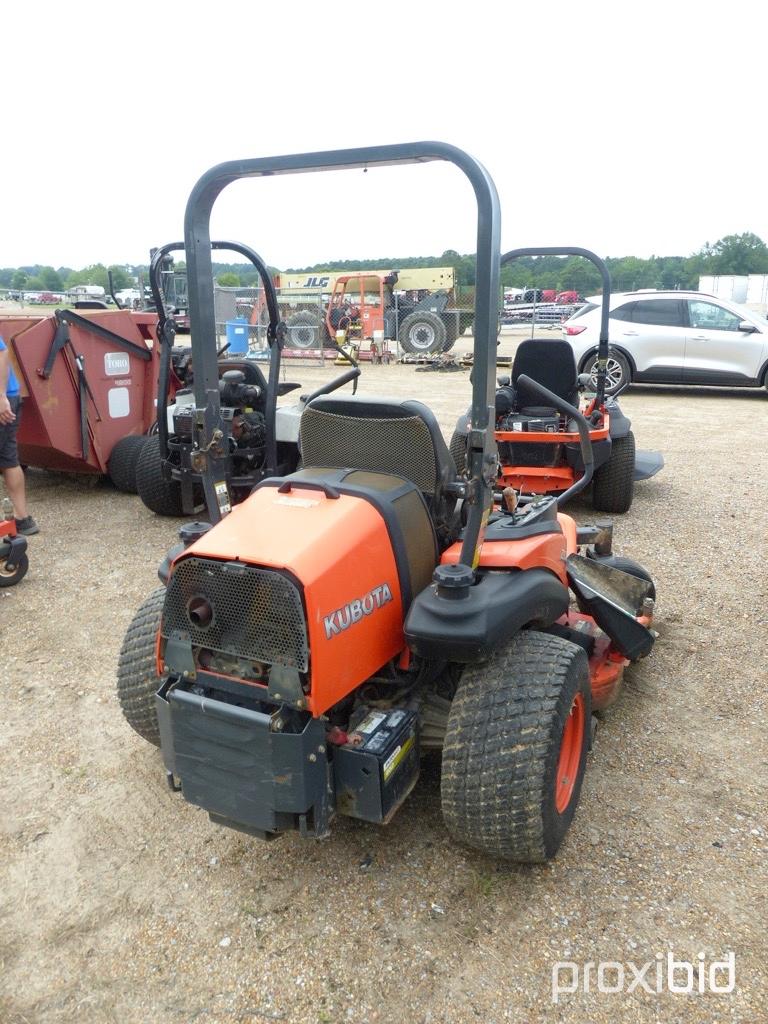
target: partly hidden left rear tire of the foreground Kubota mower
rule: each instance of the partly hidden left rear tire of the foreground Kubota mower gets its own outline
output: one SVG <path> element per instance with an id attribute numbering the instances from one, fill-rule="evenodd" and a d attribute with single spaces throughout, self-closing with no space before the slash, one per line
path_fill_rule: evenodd
<path id="1" fill-rule="evenodd" d="M 160 746 L 160 728 L 155 694 L 160 685 L 155 644 L 163 615 L 165 587 L 146 598 L 125 634 L 118 660 L 118 700 L 128 725 L 155 746 Z"/>

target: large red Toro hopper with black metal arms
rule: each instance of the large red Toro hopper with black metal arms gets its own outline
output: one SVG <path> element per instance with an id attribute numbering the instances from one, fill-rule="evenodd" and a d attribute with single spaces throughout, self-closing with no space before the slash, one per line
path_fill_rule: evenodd
<path id="1" fill-rule="evenodd" d="M 157 419 L 157 325 L 156 313 L 127 309 L 0 316 L 24 397 L 23 465 L 106 473 L 135 489 L 138 452 Z"/>

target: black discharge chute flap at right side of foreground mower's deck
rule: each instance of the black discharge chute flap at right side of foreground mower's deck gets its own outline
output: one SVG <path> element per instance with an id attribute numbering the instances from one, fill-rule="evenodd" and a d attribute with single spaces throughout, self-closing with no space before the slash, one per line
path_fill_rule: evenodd
<path id="1" fill-rule="evenodd" d="M 650 653 L 653 633 L 637 616 L 652 584 L 583 555 L 566 559 L 568 581 L 580 605 L 630 662 Z"/>

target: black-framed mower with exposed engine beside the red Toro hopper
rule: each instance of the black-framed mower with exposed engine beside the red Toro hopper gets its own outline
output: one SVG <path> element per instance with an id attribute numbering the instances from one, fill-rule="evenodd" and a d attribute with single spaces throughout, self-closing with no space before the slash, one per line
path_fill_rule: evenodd
<path id="1" fill-rule="evenodd" d="M 307 398 L 300 399 L 297 404 L 278 408 L 278 398 L 300 385 L 280 379 L 286 325 L 280 319 L 274 283 L 264 261 L 253 249 L 239 242 L 211 242 L 210 246 L 245 256 L 261 278 L 268 312 L 269 377 L 268 380 L 264 378 L 255 359 L 245 354 L 232 357 L 225 352 L 226 346 L 219 350 L 215 386 L 219 392 L 221 416 L 220 434 L 216 436 L 216 447 L 222 453 L 220 479 L 216 481 L 215 495 L 209 480 L 206 496 L 205 459 L 200 443 L 205 424 L 196 411 L 193 393 L 197 364 L 195 344 L 193 341 L 191 349 L 174 348 L 175 318 L 173 310 L 167 306 L 161 283 L 168 254 L 183 251 L 184 244 L 171 242 L 154 250 L 150 286 L 159 315 L 158 337 L 163 346 L 158 378 L 158 432 L 148 438 L 139 454 L 136 490 L 144 505 L 158 515 L 194 515 L 206 501 L 210 508 L 215 498 L 216 521 L 231 505 L 247 498 L 259 480 L 296 468 L 299 420 Z M 352 364 L 352 369 L 315 394 L 328 393 L 349 381 L 355 382 L 356 387 L 359 370 L 353 359 L 347 357 L 346 361 Z M 175 391 L 174 401 L 169 404 L 167 397 L 172 393 L 169 381 L 174 377 L 183 386 Z"/>

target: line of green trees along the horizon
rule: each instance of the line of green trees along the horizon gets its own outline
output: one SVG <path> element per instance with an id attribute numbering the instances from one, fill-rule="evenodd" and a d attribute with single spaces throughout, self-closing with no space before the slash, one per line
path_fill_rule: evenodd
<path id="1" fill-rule="evenodd" d="M 691 256 L 636 256 L 608 257 L 611 285 L 616 292 L 638 288 L 696 289 L 701 274 L 768 273 L 768 246 L 757 234 L 727 234 L 715 243 L 705 243 Z M 365 260 L 335 260 L 311 266 L 286 267 L 286 273 L 311 273 L 318 270 L 373 270 L 383 267 L 411 268 L 453 266 L 457 284 L 470 287 L 474 284 L 475 257 L 447 249 L 440 256 L 382 257 Z M 176 269 L 184 268 L 177 261 Z M 279 272 L 275 267 L 270 271 Z M 74 270 L 70 267 L 54 269 L 51 266 L 6 267 L 0 269 L 0 289 L 19 291 L 63 292 L 76 285 L 100 285 L 108 289 L 108 271 L 112 270 L 116 290 L 131 288 L 142 276 L 147 280 L 148 265 L 106 267 L 101 263 Z M 258 274 L 243 263 L 214 263 L 214 274 L 222 286 L 253 287 Z M 502 267 L 502 285 L 511 288 L 535 286 L 557 291 L 574 291 L 582 295 L 599 292 L 601 279 L 597 269 L 581 257 L 542 256 L 523 257 Z"/>

